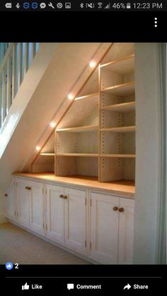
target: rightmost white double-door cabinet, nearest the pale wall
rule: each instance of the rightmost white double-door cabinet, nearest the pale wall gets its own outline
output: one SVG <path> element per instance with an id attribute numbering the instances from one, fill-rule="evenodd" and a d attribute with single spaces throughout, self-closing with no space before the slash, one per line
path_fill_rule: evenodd
<path id="1" fill-rule="evenodd" d="M 90 256 L 104 264 L 131 264 L 134 201 L 91 194 Z"/>

